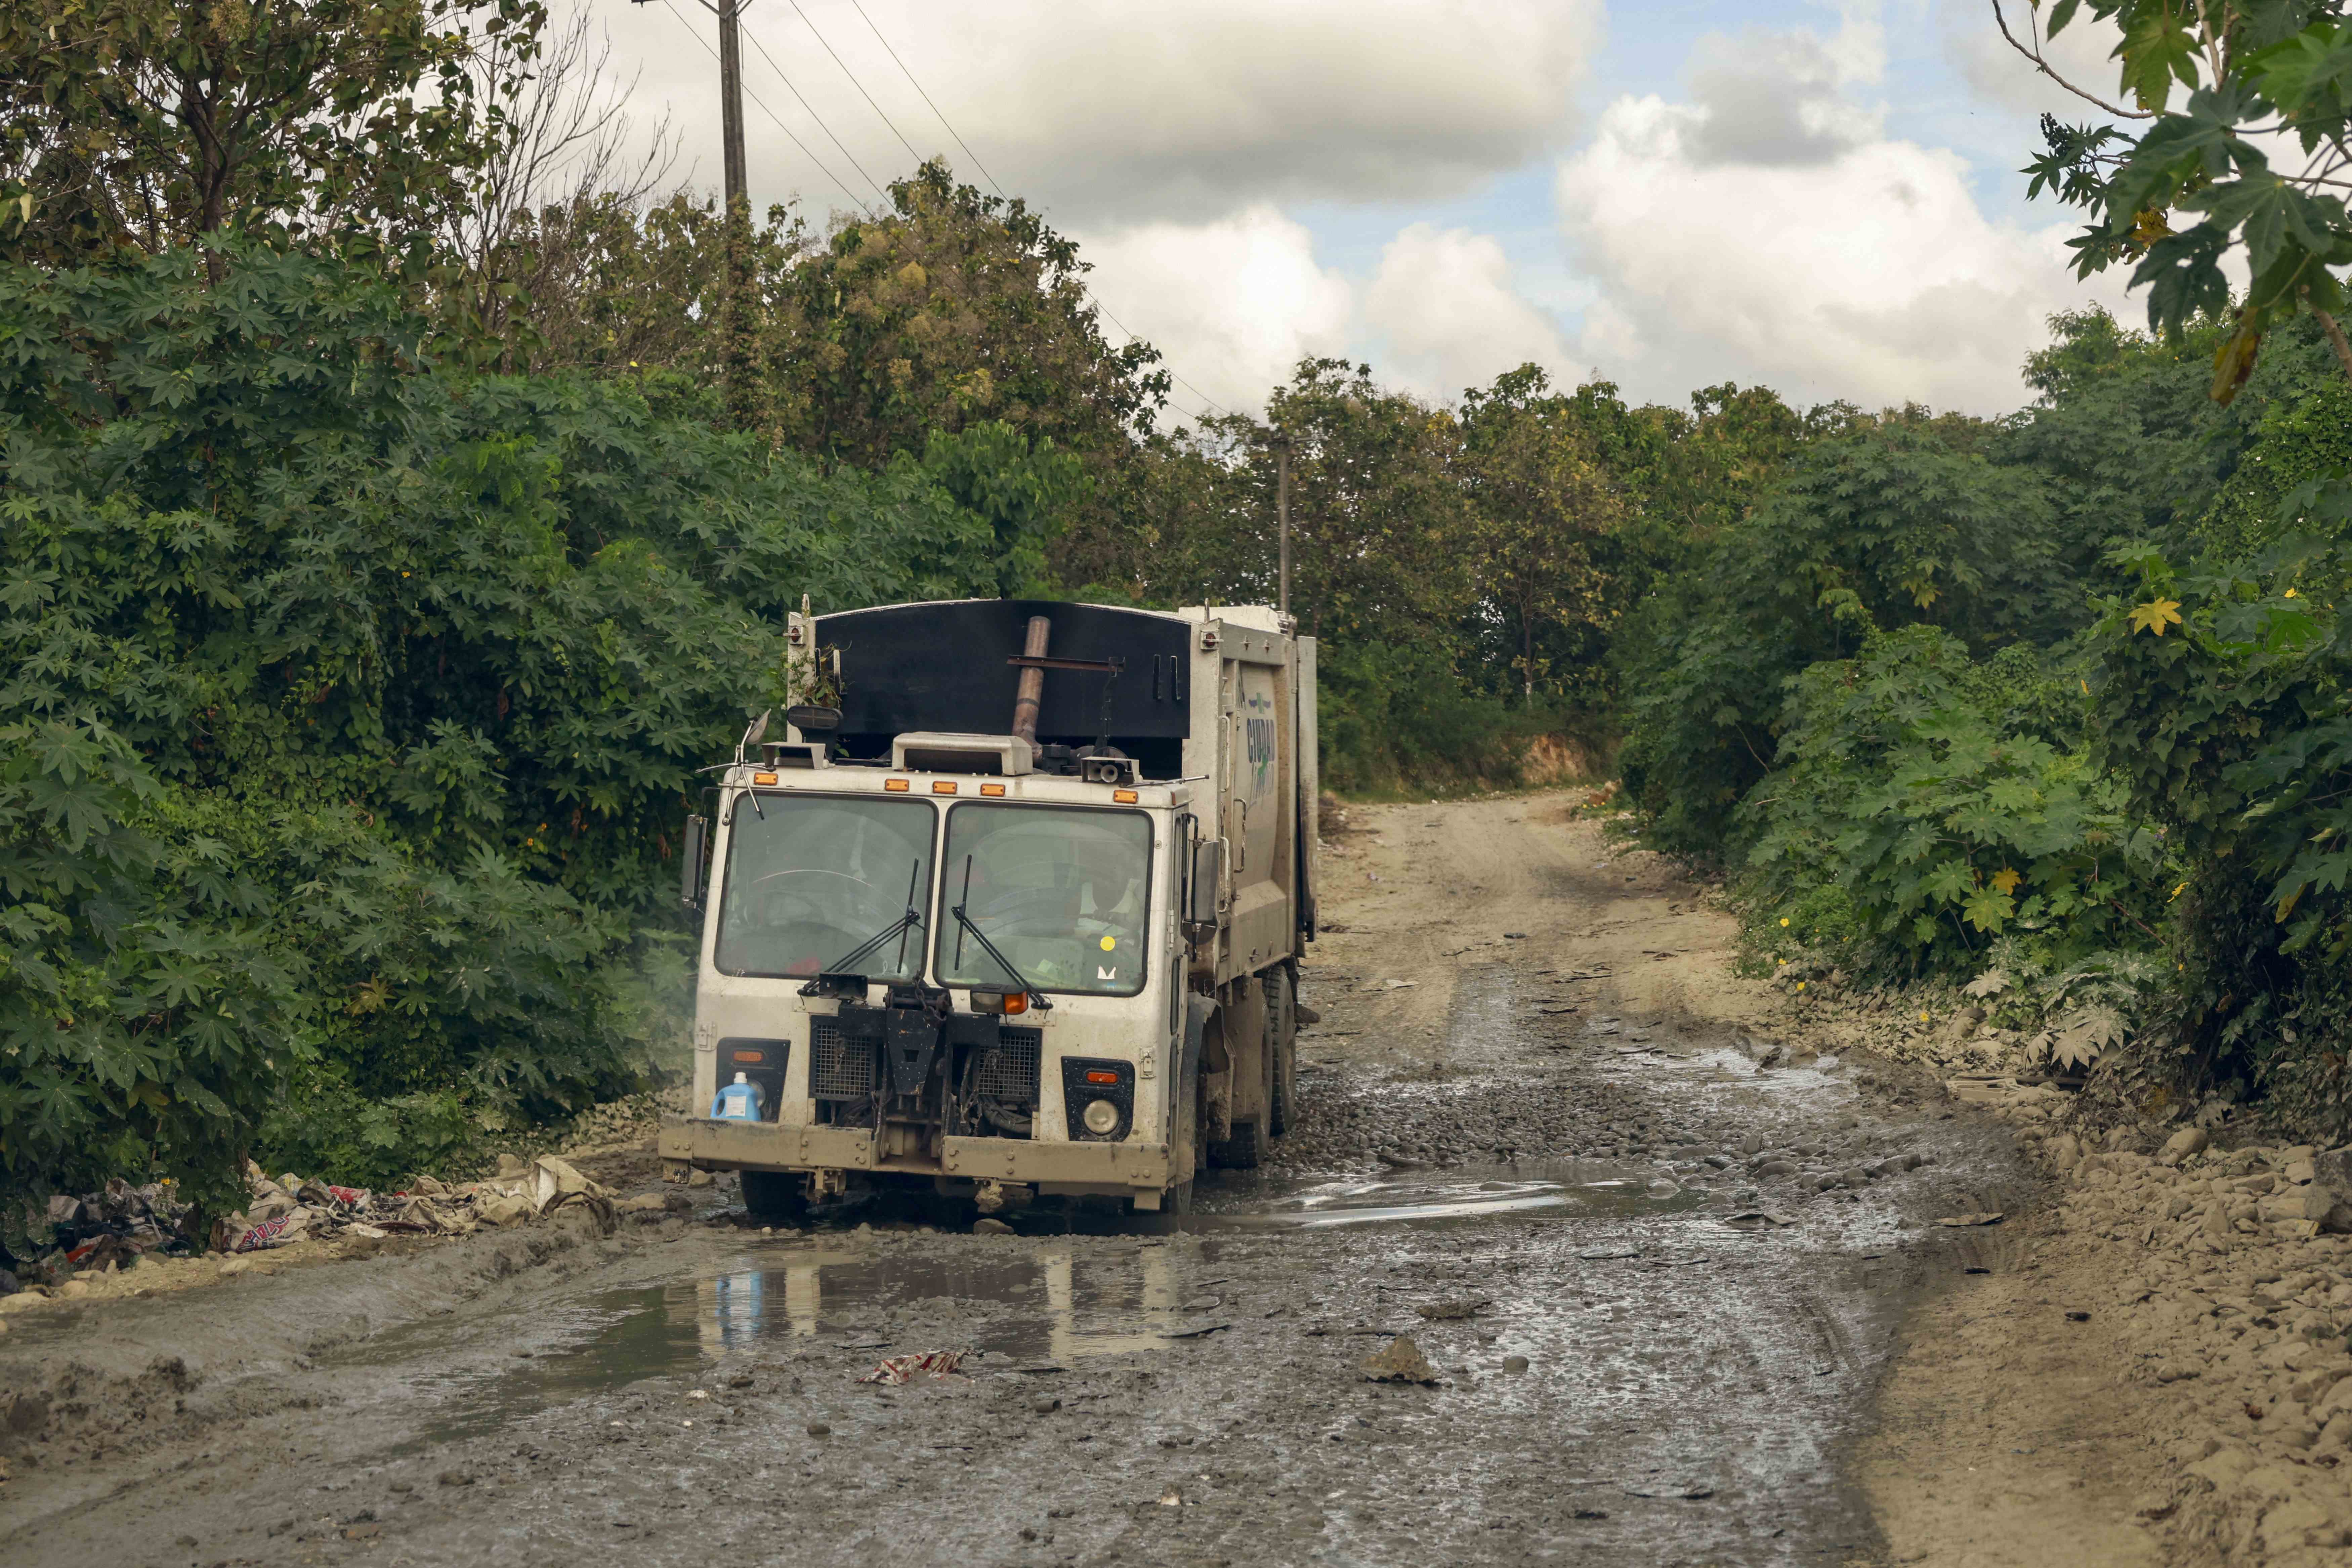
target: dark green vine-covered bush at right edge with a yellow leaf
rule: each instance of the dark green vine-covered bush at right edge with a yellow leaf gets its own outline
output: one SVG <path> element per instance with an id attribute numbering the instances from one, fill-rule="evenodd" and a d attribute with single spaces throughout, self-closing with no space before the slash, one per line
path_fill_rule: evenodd
<path id="1" fill-rule="evenodd" d="M 2352 494 L 2293 505 L 2343 527 Z M 2166 1044 L 2331 1135 L 2352 1131 L 2352 559 L 2284 541 L 2176 569 L 2126 552 L 2096 628 L 2100 762 L 2185 863 Z"/>

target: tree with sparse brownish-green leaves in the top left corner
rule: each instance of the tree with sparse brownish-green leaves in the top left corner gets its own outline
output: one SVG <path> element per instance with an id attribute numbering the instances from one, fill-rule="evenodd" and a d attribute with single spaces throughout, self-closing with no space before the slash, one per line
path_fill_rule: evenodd
<path id="1" fill-rule="evenodd" d="M 543 16 L 541 0 L 0 7 L 0 261 L 158 254 L 223 228 L 407 247 L 466 200 L 499 134 L 468 73 L 477 42 Z M 532 49 L 508 59 L 520 75 Z"/>

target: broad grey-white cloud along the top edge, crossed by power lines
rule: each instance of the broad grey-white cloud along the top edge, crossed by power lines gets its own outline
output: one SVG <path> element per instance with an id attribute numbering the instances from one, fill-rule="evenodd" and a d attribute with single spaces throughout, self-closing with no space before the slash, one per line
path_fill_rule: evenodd
<path id="1" fill-rule="evenodd" d="M 976 179 L 844 0 L 802 7 L 917 153 L 946 153 Z M 675 9 L 710 33 L 699 7 Z M 1254 200 L 1458 193 L 1564 146 L 1602 19 L 1602 0 L 868 0 L 866 9 L 988 172 L 1073 228 L 1204 219 Z M 710 56 L 663 5 L 602 14 L 644 63 L 640 108 L 666 101 L 701 183 L 717 183 Z M 753 7 L 743 28 L 873 179 L 913 162 L 793 7 Z M 873 200 L 750 42 L 743 80 Z M 790 190 L 816 207 L 840 202 L 757 106 L 746 106 L 746 141 L 755 202 Z"/>

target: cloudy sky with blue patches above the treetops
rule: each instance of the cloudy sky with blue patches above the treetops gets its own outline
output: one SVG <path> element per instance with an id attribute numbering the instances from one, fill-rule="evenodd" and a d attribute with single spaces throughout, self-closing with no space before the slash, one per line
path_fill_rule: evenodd
<path id="1" fill-rule="evenodd" d="M 572 2 L 715 188 L 703 2 Z M 946 155 L 1080 242 L 1174 418 L 1254 411 L 1301 355 L 1432 402 L 1536 362 L 2004 414 L 2051 313 L 2140 315 L 2025 200 L 2039 113 L 2096 110 L 1990 0 L 750 0 L 743 31 L 755 209 L 880 207 Z M 2112 89 L 2110 45 L 2051 59 Z"/>

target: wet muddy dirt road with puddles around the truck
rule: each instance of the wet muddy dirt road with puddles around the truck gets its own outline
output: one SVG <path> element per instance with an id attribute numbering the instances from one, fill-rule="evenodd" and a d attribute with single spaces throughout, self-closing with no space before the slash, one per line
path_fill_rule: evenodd
<path id="1" fill-rule="evenodd" d="M 1776 1058 L 1729 922 L 1566 802 L 1348 813 L 1303 1126 L 1183 1220 L 762 1232 L 720 1182 L 21 1319 L 64 1380 L 7 1561 L 1882 1561 L 1851 1450 L 1971 1262 L 1936 1220 L 2023 1166 L 1926 1079 Z M 1404 1338 L 1435 1382 L 1369 1380 Z M 858 1380 L 917 1352 L 960 1373 Z"/>

